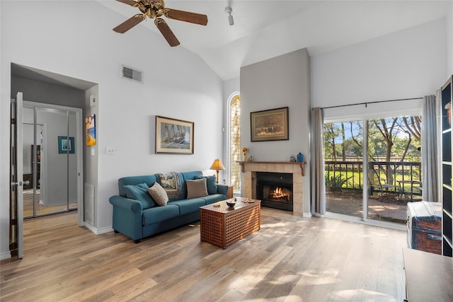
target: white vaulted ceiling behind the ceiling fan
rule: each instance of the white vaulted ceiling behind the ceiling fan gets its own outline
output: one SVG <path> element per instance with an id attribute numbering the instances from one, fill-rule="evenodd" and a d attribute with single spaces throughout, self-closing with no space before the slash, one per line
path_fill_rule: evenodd
<path id="1" fill-rule="evenodd" d="M 178 47 L 199 54 L 226 80 L 238 77 L 241 66 L 304 47 L 314 55 L 435 21 L 445 17 L 449 2 L 167 0 L 165 4 L 208 16 L 207 26 L 175 20 L 167 23 L 180 40 Z M 125 16 L 124 20 L 138 12 L 118 1 L 100 3 Z M 233 10 L 232 26 L 226 6 Z M 122 20 L 109 22 L 114 27 Z M 139 26 L 159 33 L 152 21 Z"/>

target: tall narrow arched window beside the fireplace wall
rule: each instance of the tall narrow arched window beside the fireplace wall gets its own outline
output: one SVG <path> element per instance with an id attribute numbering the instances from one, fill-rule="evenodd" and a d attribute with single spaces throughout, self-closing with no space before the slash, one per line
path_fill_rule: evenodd
<path id="1" fill-rule="evenodd" d="M 229 108 L 229 171 L 230 183 L 235 192 L 241 191 L 241 167 L 237 161 L 241 161 L 241 95 L 236 94 L 231 98 Z"/>

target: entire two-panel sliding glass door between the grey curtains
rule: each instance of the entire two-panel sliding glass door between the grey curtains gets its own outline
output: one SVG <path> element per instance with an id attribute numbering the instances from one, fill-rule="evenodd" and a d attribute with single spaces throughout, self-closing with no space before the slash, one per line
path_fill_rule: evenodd
<path id="1" fill-rule="evenodd" d="M 406 223 L 423 190 L 420 133 L 420 116 L 325 122 L 326 211 Z"/>

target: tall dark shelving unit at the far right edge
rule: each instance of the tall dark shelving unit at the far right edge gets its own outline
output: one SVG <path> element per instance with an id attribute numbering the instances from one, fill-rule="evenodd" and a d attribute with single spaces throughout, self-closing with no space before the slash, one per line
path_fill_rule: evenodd
<path id="1" fill-rule="evenodd" d="M 442 86 L 442 255 L 452 257 L 452 80 Z"/>

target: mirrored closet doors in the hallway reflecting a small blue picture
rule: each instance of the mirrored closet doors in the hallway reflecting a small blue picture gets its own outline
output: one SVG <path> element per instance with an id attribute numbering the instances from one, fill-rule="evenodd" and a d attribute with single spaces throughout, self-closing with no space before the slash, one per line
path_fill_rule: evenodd
<path id="1" fill-rule="evenodd" d="M 23 105 L 23 217 L 77 209 L 79 142 L 76 109 Z M 28 180 L 28 182 L 26 182 Z"/>

